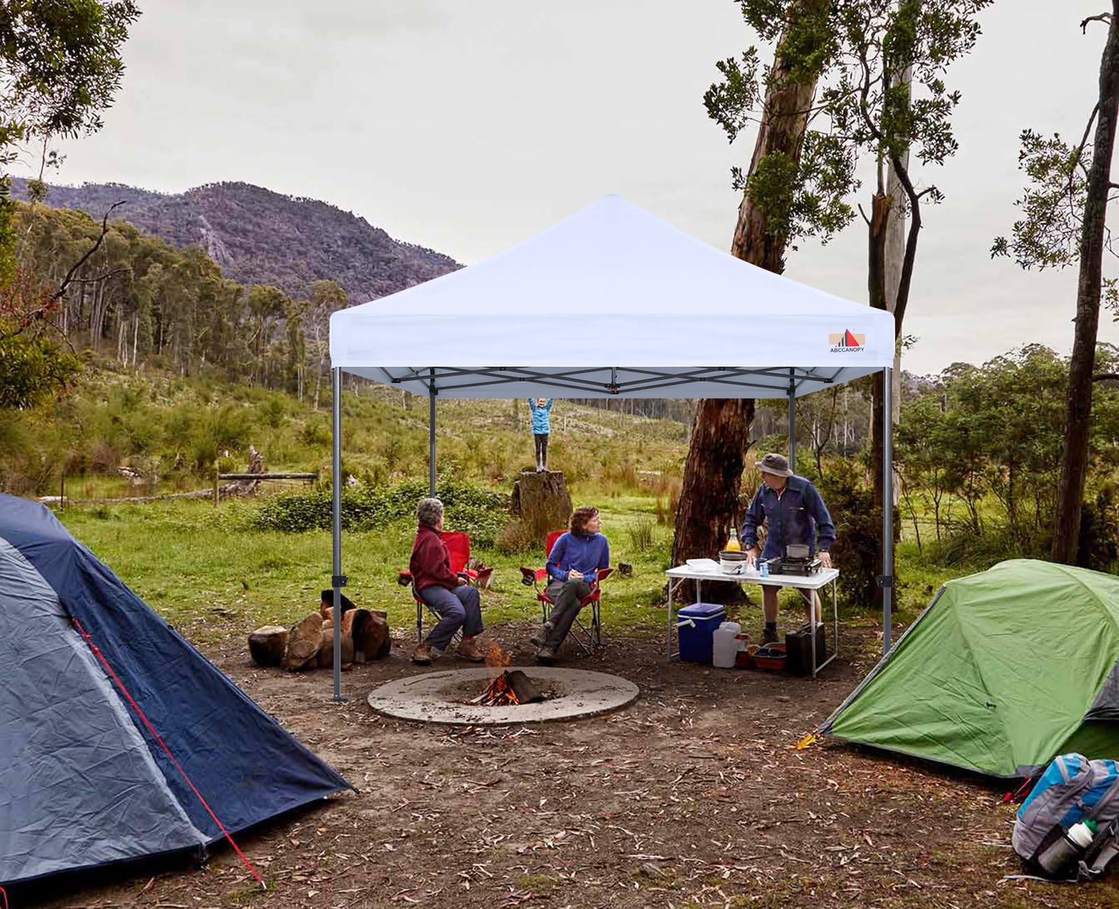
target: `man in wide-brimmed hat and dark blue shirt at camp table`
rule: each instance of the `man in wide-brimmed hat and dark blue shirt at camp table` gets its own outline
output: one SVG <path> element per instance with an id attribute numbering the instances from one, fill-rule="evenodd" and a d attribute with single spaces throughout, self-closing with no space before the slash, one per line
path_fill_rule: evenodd
<path id="1" fill-rule="evenodd" d="M 767 455 L 758 461 L 762 485 L 758 488 L 742 522 L 742 542 L 751 559 L 777 559 L 790 545 L 808 546 L 809 554 L 819 551 L 824 568 L 831 568 L 831 544 L 836 542 L 836 525 L 828 514 L 819 491 L 811 481 L 796 476 L 781 455 Z M 765 524 L 765 547 L 759 552 L 758 528 Z M 777 640 L 777 597 L 781 588 L 762 587 L 762 611 L 765 629 L 762 644 Z M 812 591 L 808 620 L 819 618 L 819 601 Z"/>

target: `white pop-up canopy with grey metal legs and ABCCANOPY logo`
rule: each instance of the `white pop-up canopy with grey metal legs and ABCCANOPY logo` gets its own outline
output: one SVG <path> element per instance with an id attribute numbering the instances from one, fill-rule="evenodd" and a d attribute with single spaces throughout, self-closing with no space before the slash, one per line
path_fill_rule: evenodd
<path id="1" fill-rule="evenodd" d="M 606 196 L 491 259 L 331 316 L 333 476 L 342 372 L 427 394 L 434 489 L 436 396 L 786 397 L 791 457 L 796 397 L 880 369 L 888 395 L 893 357 L 888 312 L 759 269 Z M 888 402 L 885 413 L 890 465 Z M 887 467 L 886 502 L 891 476 Z M 891 523 L 886 508 L 887 649 Z M 345 583 L 335 482 L 336 699 Z"/>

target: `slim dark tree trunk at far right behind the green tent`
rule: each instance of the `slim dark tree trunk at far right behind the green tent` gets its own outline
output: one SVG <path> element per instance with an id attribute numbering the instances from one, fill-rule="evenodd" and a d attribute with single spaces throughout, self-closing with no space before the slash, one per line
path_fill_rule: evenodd
<path id="1" fill-rule="evenodd" d="M 1100 106 L 1088 174 L 1088 196 L 1080 235 L 1080 277 L 1076 283 L 1076 332 L 1069 365 L 1069 409 L 1065 424 L 1061 481 L 1053 522 L 1054 562 L 1071 564 L 1080 542 L 1080 510 L 1088 472 L 1088 434 L 1092 416 L 1092 367 L 1100 325 L 1100 285 L 1107 232 L 1108 193 L 1111 188 L 1111 154 L 1119 111 L 1119 0 L 1111 2 L 1108 41 L 1100 60 Z"/>

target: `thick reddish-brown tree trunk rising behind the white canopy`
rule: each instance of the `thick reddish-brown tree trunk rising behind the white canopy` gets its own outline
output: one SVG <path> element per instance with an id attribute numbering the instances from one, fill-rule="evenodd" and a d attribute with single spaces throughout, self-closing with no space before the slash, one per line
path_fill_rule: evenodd
<path id="1" fill-rule="evenodd" d="M 828 0 L 794 0 L 791 21 L 826 16 Z M 790 77 L 790 59 L 783 51 L 784 36 L 778 43 L 773 59 L 773 78 L 765 94 L 765 116 L 758 131 L 750 174 L 771 154 L 800 161 L 808 128 L 808 113 L 816 94 L 818 74 L 803 81 Z M 797 49 L 800 58 L 805 48 Z M 731 243 L 731 253 L 768 271 L 784 271 L 788 236 L 769 226 L 770 213 L 758 205 L 749 185 L 739 205 L 739 218 Z M 684 486 L 676 509 L 676 536 L 673 542 L 673 564 L 686 559 L 711 557 L 722 547 L 727 528 L 737 523 L 739 491 L 742 465 L 754 419 L 753 399 L 699 401 L 684 465 Z M 735 584 L 712 584 L 739 590 Z"/>

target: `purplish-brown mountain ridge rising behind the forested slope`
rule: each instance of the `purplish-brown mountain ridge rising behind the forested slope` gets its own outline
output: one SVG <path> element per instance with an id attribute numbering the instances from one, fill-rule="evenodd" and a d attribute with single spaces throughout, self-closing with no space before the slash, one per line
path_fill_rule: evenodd
<path id="1" fill-rule="evenodd" d="M 27 199 L 27 180 L 12 196 Z M 113 215 L 175 246 L 198 245 L 243 284 L 274 284 L 304 297 L 313 281 L 337 281 L 351 303 L 423 283 L 461 265 L 425 246 L 395 240 L 352 212 L 241 181 L 160 193 L 128 184 L 50 185 L 46 204 L 102 218 Z"/>

